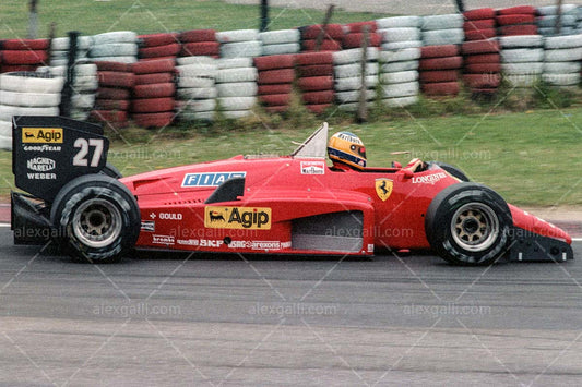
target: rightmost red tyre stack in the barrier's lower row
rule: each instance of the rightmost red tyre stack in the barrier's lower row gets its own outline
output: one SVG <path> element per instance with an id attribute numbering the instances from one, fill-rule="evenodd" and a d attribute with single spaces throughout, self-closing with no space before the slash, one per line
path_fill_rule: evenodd
<path id="1" fill-rule="evenodd" d="M 501 83 L 500 49 L 497 39 L 463 44 L 463 81 L 474 96 L 491 96 L 497 93 Z"/>

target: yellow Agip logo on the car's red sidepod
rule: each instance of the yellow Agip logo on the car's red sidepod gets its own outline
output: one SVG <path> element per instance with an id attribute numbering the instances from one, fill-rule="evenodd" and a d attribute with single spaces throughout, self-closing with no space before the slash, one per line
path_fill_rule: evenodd
<path id="1" fill-rule="evenodd" d="M 204 208 L 204 226 L 212 229 L 271 230 L 271 208 Z"/>

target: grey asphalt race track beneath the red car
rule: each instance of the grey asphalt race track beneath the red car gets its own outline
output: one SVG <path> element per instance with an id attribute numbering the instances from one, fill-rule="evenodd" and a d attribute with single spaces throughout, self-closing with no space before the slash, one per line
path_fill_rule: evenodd
<path id="1" fill-rule="evenodd" d="M 574 256 L 91 266 L 0 228 L 0 385 L 579 386 L 582 242 Z"/>

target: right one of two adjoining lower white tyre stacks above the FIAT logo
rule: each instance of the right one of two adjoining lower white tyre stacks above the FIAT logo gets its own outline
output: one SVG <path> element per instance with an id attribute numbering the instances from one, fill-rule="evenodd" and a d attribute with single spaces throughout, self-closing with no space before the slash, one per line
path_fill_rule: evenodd
<path id="1" fill-rule="evenodd" d="M 218 59 L 216 92 L 218 110 L 227 119 L 239 119 L 252 114 L 257 104 L 257 69 L 252 58 Z"/>

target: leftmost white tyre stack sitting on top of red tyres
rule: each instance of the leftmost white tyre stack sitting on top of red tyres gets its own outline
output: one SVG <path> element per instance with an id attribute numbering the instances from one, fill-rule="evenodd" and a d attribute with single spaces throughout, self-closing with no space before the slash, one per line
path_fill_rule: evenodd
<path id="1" fill-rule="evenodd" d="M 138 35 L 131 31 L 94 35 L 88 55 L 95 62 L 134 63 L 138 61 Z"/>

